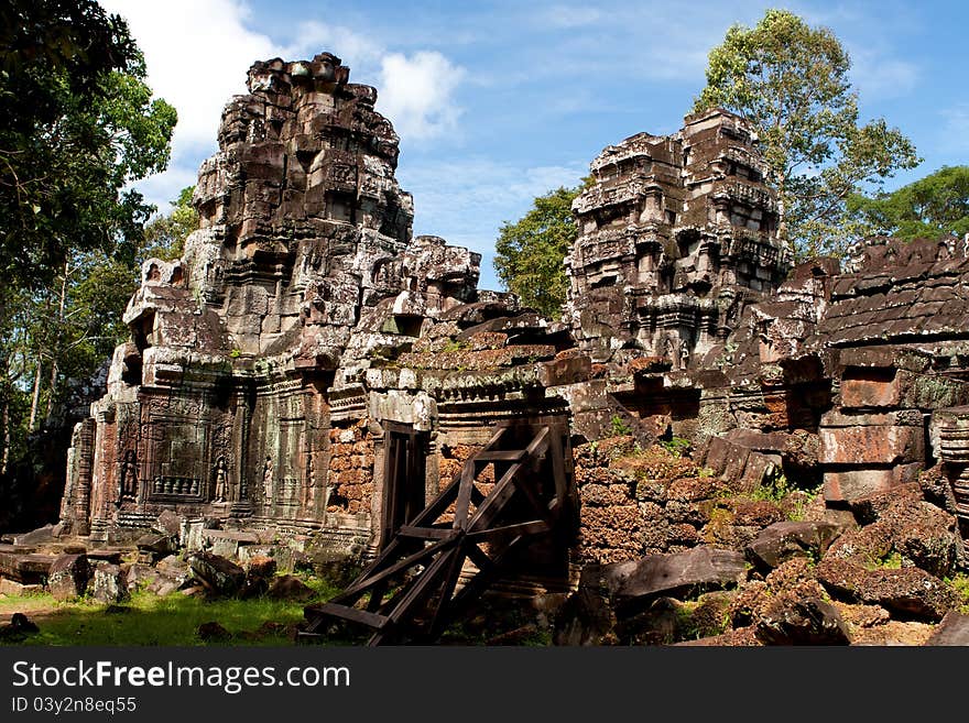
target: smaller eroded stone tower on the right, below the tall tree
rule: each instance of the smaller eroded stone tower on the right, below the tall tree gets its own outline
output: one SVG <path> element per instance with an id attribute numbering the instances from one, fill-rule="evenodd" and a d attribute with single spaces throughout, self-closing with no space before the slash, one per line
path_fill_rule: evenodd
<path id="1" fill-rule="evenodd" d="M 568 315 L 595 361 L 651 354 L 685 368 L 783 281 L 776 197 L 741 118 L 716 109 L 673 135 L 639 133 L 591 172 L 566 264 Z"/>

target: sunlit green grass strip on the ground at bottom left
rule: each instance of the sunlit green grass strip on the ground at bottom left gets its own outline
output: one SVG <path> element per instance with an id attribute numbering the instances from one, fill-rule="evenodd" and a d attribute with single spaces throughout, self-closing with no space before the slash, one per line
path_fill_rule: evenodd
<path id="1" fill-rule="evenodd" d="M 331 598 L 337 590 L 319 578 L 304 578 L 317 596 Z M 303 620 L 307 603 L 254 598 L 205 600 L 173 593 L 159 598 L 134 592 L 130 601 L 106 606 L 90 600 L 58 603 L 52 595 L 11 596 L 0 600 L 0 612 L 22 612 L 41 632 L 24 645 L 206 645 L 196 635 L 203 623 L 217 622 L 232 637 L 213 645 L 291 645 L 292 626 Z M 260 629 L 265 623 L 285 628 Z"/>

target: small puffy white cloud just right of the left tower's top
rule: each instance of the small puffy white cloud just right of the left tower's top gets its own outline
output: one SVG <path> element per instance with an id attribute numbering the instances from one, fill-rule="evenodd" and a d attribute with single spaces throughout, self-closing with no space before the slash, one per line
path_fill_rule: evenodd
<path id="1" fill-rule="evenodd" d="M 381 63 L 377 109 L 404 140 L 450 132 L 461 113 L 454 91 L 464 75 L 464 68 L 437 52 L 421 51 L 410 57 L 391 53 Z"/>

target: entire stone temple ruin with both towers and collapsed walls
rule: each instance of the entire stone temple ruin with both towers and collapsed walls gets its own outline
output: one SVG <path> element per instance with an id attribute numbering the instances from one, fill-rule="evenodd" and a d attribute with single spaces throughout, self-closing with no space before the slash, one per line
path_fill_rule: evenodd
<path id="1" fill-rule="evenodd" d="M 689 578 L 697 566 L 736 582 L 744 556 L 770 557 L 764 535 L 790 541 L 794 528 L 777 525 L 802 525 L 798 545 L 813 535 L 817 555 L 856 535 L 835 561 L 849 565 L 869 527 L 846 515 L 861 505 L 877 518 L 868 501 L 913 488 L 949 515 L 946 545 L 961 550 L 966 243 L 872 239 L 845 270 L 792 267 L 754 134 L 711 110 L 592 162 L 574 204 L 566 313 L 546 319 L 479 291 L 478 254 L 412 237 L 399 139 L 375 90 L 348 78 L 330 54 L 276 58 L 227 105 L 199 171 L 202 227 L 179 261 L 144 264 L 131 339 L 75 429 L 59 539 L 143 547 L 161 518 L 188 549 L 243 562 L 375 559 L 307 617 L 311 632 L 336 615 L 378 636 L 475 571 L 518 589 L 578 585 L 570 601 L 668 590 L 630 592 L 655 565 L 681 587 L 709 582 Z M 725 490 L 785 478 L 823 485 L 813 519 L 723 506 Z M 505 565 L 525 538 L 535 544 Z M 910 547 L 895 549 L 921 574 L 958 562 L 926 567 Z M 655 562 L 676 555 L 694 557 Z M 0 551 L 4 577 L 15 558 Z M 826 589 L 871 602 L 835 562 L 819 566 Z M 417 563 L 433 585 L 384 602 L 389 576 Z M 944 606 L 905 610 L 938 620 Z"/>

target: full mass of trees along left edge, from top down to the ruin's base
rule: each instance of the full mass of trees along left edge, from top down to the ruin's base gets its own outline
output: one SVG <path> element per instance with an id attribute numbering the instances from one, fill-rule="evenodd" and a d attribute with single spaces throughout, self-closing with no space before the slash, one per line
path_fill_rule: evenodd
<path id="1" fill-rule="evenodd" d="M 127 332 L 153 210 L 130 185 L 176 121 L 145 75 L 94 0 L 0 0 L 0 472 Z"/>

